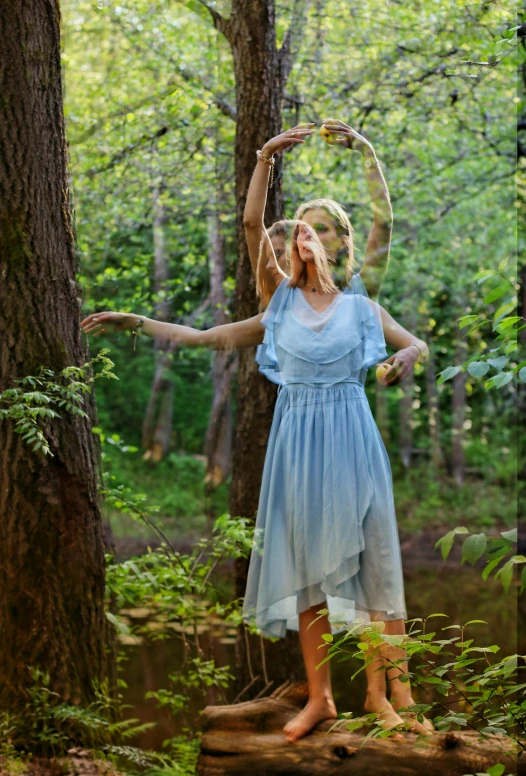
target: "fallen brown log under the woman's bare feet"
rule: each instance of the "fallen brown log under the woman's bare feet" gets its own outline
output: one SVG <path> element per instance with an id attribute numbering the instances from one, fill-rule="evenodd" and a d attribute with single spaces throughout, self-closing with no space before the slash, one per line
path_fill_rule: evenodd
<path id="1" fill-rule="evenodd" d="M 288 743 L 282 728 L 307 702 L 306 683 L 282 685 L 272 695 L 202 712 L 198 776 L 464 776 L 503 763 L 506 774 L 526 774 L 526 757 L 505 755 L 509 740 L 477 733 L 435 733 L 417 742 L 414 733 L 369 739 L 363 733 L 327 731 L 320 722 L 303 738 Z"/>

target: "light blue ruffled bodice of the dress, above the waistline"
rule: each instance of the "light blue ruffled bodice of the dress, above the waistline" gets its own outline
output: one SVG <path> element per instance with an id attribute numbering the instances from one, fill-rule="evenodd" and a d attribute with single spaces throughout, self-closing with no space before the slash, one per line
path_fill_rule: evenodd
<path id="1" fill-rule="evenodd" d="M 321 314 L 300 288 L 282 280 L 261 323 L 265 335 L 256 361 L 279 385 L 363 384 L 368 368 L 387 358 L 379 305 L 367 297 L 359 275 Z"/>

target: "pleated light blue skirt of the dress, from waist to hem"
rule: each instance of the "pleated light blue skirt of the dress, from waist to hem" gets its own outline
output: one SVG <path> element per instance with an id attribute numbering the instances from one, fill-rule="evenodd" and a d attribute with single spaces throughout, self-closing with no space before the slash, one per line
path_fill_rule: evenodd
<path id="1" fill-rule="evenodd" d="M 243 615 L 283 637 L 324 601 L 333 633 L 406 617 L 391 467 L 358 380 L 279 391 Z"/>

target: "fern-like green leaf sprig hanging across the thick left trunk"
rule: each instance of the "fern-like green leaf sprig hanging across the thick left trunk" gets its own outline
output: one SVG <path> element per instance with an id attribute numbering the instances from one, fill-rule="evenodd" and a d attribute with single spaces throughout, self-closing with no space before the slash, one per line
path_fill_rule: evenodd
<path id="1" fill-rule="evenodd" d="M 16 387 L 0 393 L 0 420 L 13 420 L 15 432 L 22 434 L 33 451 L 41 450 L 44 455 L 52 456 L 45 424 L 61 417 L 55 408 L 85 418 L 87 413 L 80 405 L 84 395 L 91 391 L 92 383 L 100 377 L 118 379 L 111 371 L 114 364 L 107 352 L 101 350 L 83 366 L 68 366 L 58 375 L 49 367 L 41 367 L 38 375 L 20 378 Z M 92 373 L 94 364 L 102 364 L 99 373 Z"/>

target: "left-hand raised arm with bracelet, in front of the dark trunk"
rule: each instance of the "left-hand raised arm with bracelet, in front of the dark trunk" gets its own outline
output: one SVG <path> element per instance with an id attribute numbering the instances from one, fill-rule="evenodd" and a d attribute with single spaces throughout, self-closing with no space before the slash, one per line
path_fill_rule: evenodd
<path id="1" fill-rule="evenodd" d="M 266 159 L 271 159 L 274 154 L 286 151 L 298 143 L 304 143 L 305 138 L 314 131 L 314 124 L 299 124 L 297 127 L 287 129 L 281 135 L 277 135 L 269 140 L 261 149 L 262 155 Z M 243 216 L 245 227 L 245 236 L 247 238 L 248 253 L 250 263 L 254 274 L 257 272 L 259 246 L 263 236 L 264 223 L 263 216 L 265 205 L 267 203 L 267 191 L 270 177 L 270 167 L 268 162 L 258 159 L 256 169 L 250 181 L 248 188 L 247 201 Z M 269 277 L 269 284 L 272 285 L 272 278 Z"/>

